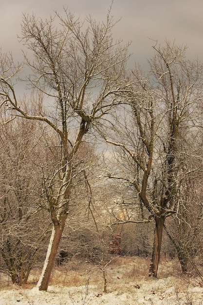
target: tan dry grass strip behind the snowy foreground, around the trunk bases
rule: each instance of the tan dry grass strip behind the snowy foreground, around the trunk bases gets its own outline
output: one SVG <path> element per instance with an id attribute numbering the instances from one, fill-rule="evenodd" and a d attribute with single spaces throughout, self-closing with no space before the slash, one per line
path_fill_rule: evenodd
<path id="1" fill-rule="evenodd" d="M 148 277 L 149 259 L 141 257 L 118 257 L 113 260 L 107 270 L 108 292 L 119 290 L 131 290 L 142 286 L 144 282 L 156 281 L 154 278 Z M 28 284 L 23 288 L 30 289 L 36 286 L 40 276 L 40 269 L 31 272 Z M 176 259 L 167 261 L 162 259 L 159 265 L 158 278 L 173 283 L 177 291 L 185 290 L 193 282 L 194 279 L 181 275 L 181 269 Z M 98 290 L 103 288 L 103 277 L 99 267 L 90 262 L 70 261 L 62 266 L 55 266 L 50 279 L 50 286 L 67 286 L 79 287 L 85 286 L 89 281 L 89 285 L 97 286 Z M 10 289 L 13 286 L 8 277 L 1 275 L 0 289 Z"/>

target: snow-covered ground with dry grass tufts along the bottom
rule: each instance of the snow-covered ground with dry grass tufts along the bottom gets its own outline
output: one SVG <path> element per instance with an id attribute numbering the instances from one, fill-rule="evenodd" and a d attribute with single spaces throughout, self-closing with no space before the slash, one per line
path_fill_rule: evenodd
<path id="1" fill-rule="evenodd" d="M 61 268 L 55 270 L 47 292 L 38 291 L 35 286 L 29 289 L 14 285 L 9 287 L 0 286 L 0 305 L 203 304 L 203 287 L 195 279 L 179 277 L 178 274 L 166 276 L 166 269 L 172 266 L 171 264 L 168 266 L 169 263 L 166 262 L 163 262 L 160 266 L 159 278 L 148 278 L 147 273 L 142 274 L 141 272 L 143 270 L 141 259 L 139 259 L 139 262 L 136 262 L 136 260 L 136 258 L 128 260 L 128 264 L 124 264 L 124 260 L 121 260 L 122 265 L 118 261 L 116 265 L 111 266 L 108 273 L 108 293 L 102 292 L 100 271 L 92 273 L 91 281 L 89 270 L 78 269 L 69 272 L 67 269 Z M 67 286 L 65 279 L 68 279 L 68 274 L 69 277 L 72 277 L 73 286 L 71 280 Z M 81 279 L 89 277 L 90 283 L 86 282 L 85 285 L 79 286 L 80 281 L 78 279 L 80 277 Z M 98 282 L 96 279 L 98 279 Z M 95 282 L 95 285 L 92 282 Z"/>

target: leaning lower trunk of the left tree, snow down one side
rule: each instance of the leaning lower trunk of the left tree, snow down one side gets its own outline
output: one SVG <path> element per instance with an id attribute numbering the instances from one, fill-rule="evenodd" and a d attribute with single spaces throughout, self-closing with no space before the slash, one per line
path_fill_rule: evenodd
<path id="1" fill-rule="evenodd" d="M 63 233 L 65 220 L 66 217 L 63 217 L 60 222 L 53 224 L 52 235 L 50 238 L 49 247 L 47 249 L 44 267 L 37 283 L 39 290 L 47 291 L 52 269 L 55 263 L 56 252 Z"/>

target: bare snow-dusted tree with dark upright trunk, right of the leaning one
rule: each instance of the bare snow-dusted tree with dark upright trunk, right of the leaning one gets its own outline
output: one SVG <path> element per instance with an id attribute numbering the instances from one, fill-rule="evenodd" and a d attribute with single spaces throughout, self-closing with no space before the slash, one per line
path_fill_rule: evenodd
<path id="1" fill-rule="evenodd" d="M 163 48 L 155 44 L 153 49 L 151 74 L 145 76 L 140 69 L 133 72 L 134 88 L 125 92 L 129 108 L 123 106 L 114 133 L 106 136 L 120 152 L 115 153 L 117 170 L 105 176 L 133 186 L 148 210 L 148 219 L 142 221 L 154 219 L 149 275 L 156 277 L 165 220 L 176 212 L 179 202 L 178 176 L 184 162 L 181 133 L 198 128 L 200 122 L 197 105 L 202 99 L 203 67 L 197 60 L 186 60 L 186 48 L 174 43 L 166 41 Z"/>

